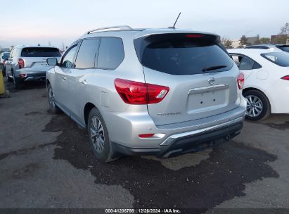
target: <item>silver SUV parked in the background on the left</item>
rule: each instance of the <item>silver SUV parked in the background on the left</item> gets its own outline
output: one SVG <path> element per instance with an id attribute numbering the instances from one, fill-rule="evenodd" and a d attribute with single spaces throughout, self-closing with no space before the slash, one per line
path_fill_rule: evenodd
<path id="1" fill-rule="evenodd" d="M 60 51 L 54 46 L 14 46 L 6 61 L 6 75 L 13 80 L 14 87 L 20 89 L 24 82 L 45 81 L 46 71 L 51 68 L 46 59 L 56 57 Z"/>

